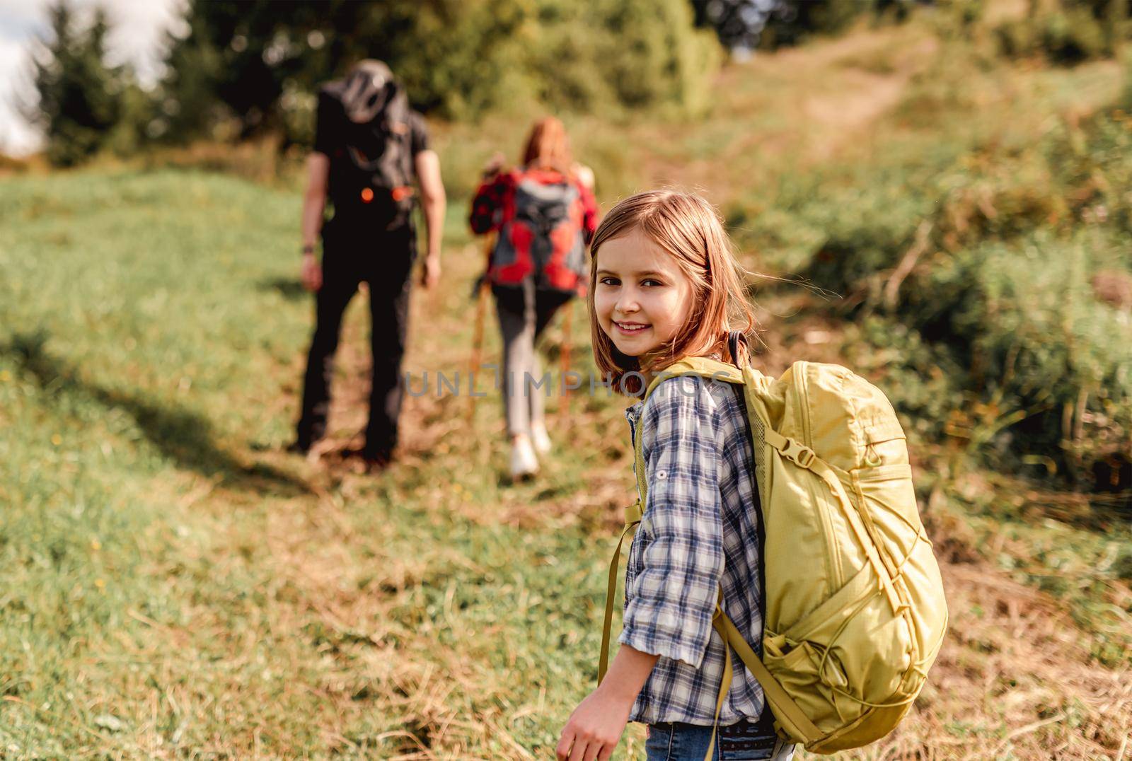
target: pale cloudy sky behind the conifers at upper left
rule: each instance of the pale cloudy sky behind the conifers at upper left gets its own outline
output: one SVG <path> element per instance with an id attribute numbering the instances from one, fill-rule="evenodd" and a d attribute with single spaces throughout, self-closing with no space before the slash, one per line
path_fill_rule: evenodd
<path id="1" fill-rule="evenodd" d="M 110 17 L 109 59 L 129 61 L 143 84 L 161 74 L 163 32 L 180 19 L 183 0 L 70 0 L 79 12 L 96 6 Z M 24 155 L 36 151 L 42 138 L 20 114 L 19 103 L 35 103 L 32 50 L 50 34 L 49 0 L 0 0 L 0 153 Z"/>

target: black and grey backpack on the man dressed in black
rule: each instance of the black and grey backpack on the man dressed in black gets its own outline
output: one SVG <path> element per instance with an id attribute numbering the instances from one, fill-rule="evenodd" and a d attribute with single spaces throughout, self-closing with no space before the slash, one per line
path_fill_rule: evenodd
<path id="1" fill-rule="evenodd" d="M 384 65 L 359 66 L 319 91 L 319 125 L 334 136 L 334 214 L 371 229 L 406 224 L 413 210 L 409 99 Z"/>

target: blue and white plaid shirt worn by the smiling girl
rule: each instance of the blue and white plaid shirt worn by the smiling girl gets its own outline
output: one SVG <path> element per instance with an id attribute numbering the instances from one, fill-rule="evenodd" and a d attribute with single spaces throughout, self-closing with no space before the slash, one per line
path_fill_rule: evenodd
<path id="1" fill-rule="evenodd" d="M 711 619 L 721 582 L 723 609 L 762 652 L 762 527 L 740 394 L 683 376 L 626 411 L 633 436 L 644 437 L 648 499 L 629 550 L 619 641 L 660 656 L 631 721 L 713 722 L 724 653 Z M 734 653 L 731 662 L 724 725 L 763 710 L 758 682 Z"/>

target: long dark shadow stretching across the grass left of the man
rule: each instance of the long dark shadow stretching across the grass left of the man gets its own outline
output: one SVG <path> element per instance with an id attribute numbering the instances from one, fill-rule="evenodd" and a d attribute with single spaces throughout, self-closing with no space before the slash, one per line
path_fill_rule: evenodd
<path id="1" fill-rule="evenodd" d="M 289 473 L 261 463 L 245 464 L 216 446 L 212 422 L 201 414 L 84 380 L 76 368 L 51 357 L 44 350 L 45 342 L 42 331 L 15 333 L 0 344 L 0 353 L 14 358 L 45 391 L 128 413 L 145 437 L 182 468 L 203 476 L 218 474 L 223 486 L 239 489 L 285 496 L 310 493 L 310 487 Z"/>

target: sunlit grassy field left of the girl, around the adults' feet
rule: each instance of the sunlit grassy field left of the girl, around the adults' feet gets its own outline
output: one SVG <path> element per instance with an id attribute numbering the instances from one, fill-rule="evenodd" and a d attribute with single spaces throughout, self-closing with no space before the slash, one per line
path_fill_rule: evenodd
<path id="1" fill-rule="evenodd" d="M 310 317 L 293 194 L 183 171 L 2 194 L 0 747 L 384 758 L 435 712 L 452 747 L 552 745 L 594 677 L 609 519 L 577 493 L 607 451 L 506 488 L 495 400 L 466 430 L 464 400 L 422 397 L 447 433 L 406 442 L 418 467 L 312 471 L 278 454 Z M 418 308 L 417 334 L 472 307 Z"/>

